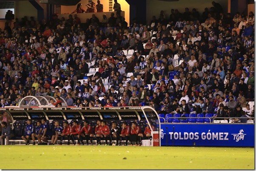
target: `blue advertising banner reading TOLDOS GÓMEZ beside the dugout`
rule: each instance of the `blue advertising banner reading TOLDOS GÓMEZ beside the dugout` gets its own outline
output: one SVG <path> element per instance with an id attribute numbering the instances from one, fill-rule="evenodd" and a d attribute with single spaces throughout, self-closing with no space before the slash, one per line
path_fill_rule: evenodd
<path id="1" fill-rule="evenodd" d="M 254 124 L 163 123 L 160 134 L 161 146 L 254 147 Z"/>

